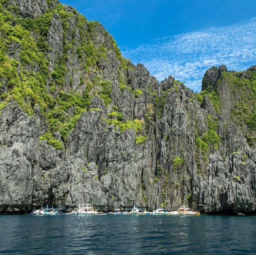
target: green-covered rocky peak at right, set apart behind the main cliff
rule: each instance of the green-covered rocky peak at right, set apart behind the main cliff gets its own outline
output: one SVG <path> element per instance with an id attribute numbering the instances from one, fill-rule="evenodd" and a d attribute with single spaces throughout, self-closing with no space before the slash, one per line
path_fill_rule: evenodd
<path id="1" fill-rule="evenodd" d="M 226 112 L 226 118 L 230 118 L 228 121 L 234 122 L 247 138 L 248 144 L 254 146 L 256 142 L 255 67 L 239 72 L 227 71 L 225 66 L 212 67 L 204 75 L 203 87 L 203 91 L 196 93 L 198 102 L 202 104 L 204 96 L 208 96 L 216 112 L 221 115 L 223 114 L 221 111 L 225 111 L 224 108 L 228 107 L 230 114 Z M 230 91 L 230 93 L 227 91 Z M 228 104 L 226 107 L 222 105 L 221 108 L 220 97 L 222 97 L 222 104 Z M 227 99 L 228 102 L 225 102 Z M 197 134 L 196 143 L 200 150 L 207 150 L 207 143 L 200 140 Z"/>

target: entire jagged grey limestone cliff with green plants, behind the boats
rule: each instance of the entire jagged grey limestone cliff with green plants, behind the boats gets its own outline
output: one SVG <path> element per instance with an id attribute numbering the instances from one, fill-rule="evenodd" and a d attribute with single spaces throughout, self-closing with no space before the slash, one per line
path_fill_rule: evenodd
<path id="1" fill-rule="evenodd" d="M 255 67 L 213 67 L 195 94 L 70 6 L 0 5 L 0 212 L 256 211 Z"/>

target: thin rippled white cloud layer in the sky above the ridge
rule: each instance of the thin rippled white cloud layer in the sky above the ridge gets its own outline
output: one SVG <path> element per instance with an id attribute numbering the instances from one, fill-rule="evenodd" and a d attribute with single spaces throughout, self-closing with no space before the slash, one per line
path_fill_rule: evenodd
<path id="1" fill-rule="evenodd" d="M 157 38 L 142 45 L 121 46 L 124 57 L 142 63 L 159 81 L 169 75 L 200 91 L 212 66 L 245 70 L 256 65 L 256 18 L 231 26 Z"/>

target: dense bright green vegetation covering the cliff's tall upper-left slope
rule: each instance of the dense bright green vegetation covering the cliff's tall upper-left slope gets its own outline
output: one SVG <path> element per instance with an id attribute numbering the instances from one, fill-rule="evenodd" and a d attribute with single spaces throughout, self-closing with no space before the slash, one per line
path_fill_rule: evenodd
<path id="1" fill-rule="evenodd" d="M 64 39 L 59 42 L 63 44 L 63 51 L 56 56 L 54 68 L 49 72 L 49 53 L 52 49 L 48 45 L 47 34 L 55 13 L 60 16 L 63 26 Z M 98 22 L 88 22 L 76 10 L 67 10 L 56 2 L 54 8 L 47 9 L 36 18 L 21 18 L 18 14 L 16 6 L 7 4 L 5 0 L 0 1 L 0 109 L 14 99 L 28 115 L 33 115 L 38 105 L 48 123 L 48 131 L 40 139 L 47 140 L 54 148 L 60 149 L 62 143 L 53 139 L 54 133 L 60 132 L 65 142 L 81 113 L 90 109 L 94 96 L 100 97 L 106 107 L 112 103 L 112 84 L 104 81 L 98 74 L 97 61 L 106 60 L 107 50 L 110 50 L 116 54 L 122 68 L 128 68 L 128 62 L 122 57 L 108 32 L 104 31 L 104 36 L 109 38 L 106 40 L 109 44 L 96 44 L 95 37 L 101 25 Z M 75 18 L 76 26 L 71 40 L 67 40 L 69 21 L 72 18 Z M 77 32 L 80 42 L 75 39 Z M 78 93 L 66 87 L 67 83 L 72 87 L 72 78 L 66 81 L 70 52 L 75 52 L 85 70 L 79 77 L 84 89 L 80 89 Z M 92 82 L 86 80 L 89 74 L 92 75 Z M 120 83 L 120 87 L 124 86 L 124 83 Z M 122 121 L 122 113 L 118 112 L 117 119 Z"/>

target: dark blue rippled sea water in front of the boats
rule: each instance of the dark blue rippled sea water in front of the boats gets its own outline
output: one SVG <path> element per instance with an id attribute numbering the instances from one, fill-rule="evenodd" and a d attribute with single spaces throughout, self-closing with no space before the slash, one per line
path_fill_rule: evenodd
<path id="1" fill-rule="evenodd" d="M 0 215 L 0 254 L 256 254 L 256 216 Z"/>

